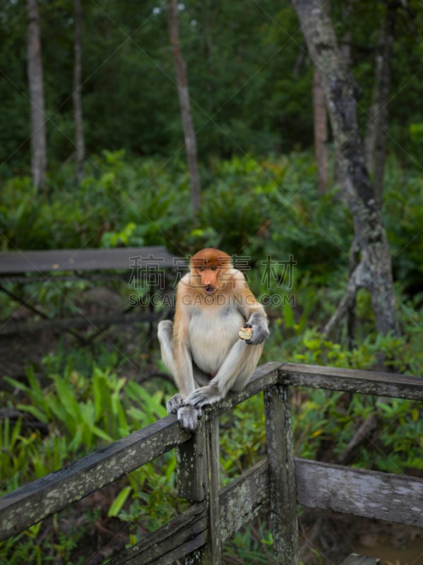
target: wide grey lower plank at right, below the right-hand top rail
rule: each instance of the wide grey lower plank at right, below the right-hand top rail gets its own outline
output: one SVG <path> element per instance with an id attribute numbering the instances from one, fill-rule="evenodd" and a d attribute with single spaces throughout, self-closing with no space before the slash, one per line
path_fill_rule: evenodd
<path id="1" fill-rule="evenodd" d="M 299 504 L 423 528 L 423 479 L 296 459 Z"/>

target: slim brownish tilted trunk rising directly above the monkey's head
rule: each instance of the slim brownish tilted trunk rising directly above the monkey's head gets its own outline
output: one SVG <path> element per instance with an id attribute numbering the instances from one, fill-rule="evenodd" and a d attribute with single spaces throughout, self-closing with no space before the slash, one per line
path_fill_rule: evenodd
<path id="1" fill-rule="evenodd" d="M 189 102 L 188 80 L 186 64 L 181 54 L 178 29 L 178 4 L 177 0 L 169 0 L 169 30 L 170 42 L 175 63 L 179 106 L 181 107 L 182 126 L 184 128 L 186 160 L 191 177 L 191 202 L 194 215 L 200 206 L 200 175 L 198 173 L 196 133 L 193 129 L 191 106 Z"/>

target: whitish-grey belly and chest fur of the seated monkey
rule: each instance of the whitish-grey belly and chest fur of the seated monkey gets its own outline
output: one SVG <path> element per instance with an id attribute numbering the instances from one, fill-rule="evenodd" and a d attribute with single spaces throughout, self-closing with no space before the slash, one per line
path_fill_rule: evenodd
<path id="1" fill-rule="evenodd" d="M 216 374 L 244 323 L 244 316 L 233 307 L 194 308 L 188 331 L 196 365 L 205 373 Z"/>

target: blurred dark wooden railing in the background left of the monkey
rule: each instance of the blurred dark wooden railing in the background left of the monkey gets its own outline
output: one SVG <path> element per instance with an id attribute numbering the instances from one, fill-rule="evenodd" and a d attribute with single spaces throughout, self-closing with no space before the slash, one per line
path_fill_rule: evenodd
<path id="1" fill-rule="evenodd" d="M 179 267 L 182 263 L 179 261 Z M 0 323 L 0 335 L 12 333 L 38 332 L 44 329 L 67 331 L 75 335 L 82 343 L 89 342 L 86 335 L 81 335 L 74 329 L 93 328 L 95 334 L 101 333 L 100 328 L 116 323 L 151 323 L 157 321 L 157 313 L 150 308 L 134 308 L 136 304 L 126 305 L 123 311 L 109 314 L 80 314 L 66 318 L 51 318 L 43 309 L 34 303 L 33 297 L 24 292 L 28 283 L 57 283 L 59 280 L 76 280 L 83 276 L 95 280 L 100 277 L 102 283 L 111 276 L 123 278 L 126 285 L 135 290 L 141 290 L 143 276 L 148 269 L 155 268 L 157 299 L 169 293 L 169 275 L 175 266 L 175 258 L 163 246 L 147 247 L 116 247 L 114 249 L 49 249 L 46 251 L 4 251 L 0 253 L 0 292 L 4 292 L 18 304 L 23 304 L 26 310 L 37 315 L 37 319 L 8 319 Z M 96 274 L 97 273 L 97 274 Z M 145 277 L 148 280 L 148 277 Z M 160 280 L 161 279 L 161 280 Z M 131 283 L 132 281 L 132 283 Z M 174 283 L 174 280 L 172 281 Z M 6 283 L 16 283 L 19 290 L 11 289 Z M 160 300 L 169 305 L 169 301 Z"/>

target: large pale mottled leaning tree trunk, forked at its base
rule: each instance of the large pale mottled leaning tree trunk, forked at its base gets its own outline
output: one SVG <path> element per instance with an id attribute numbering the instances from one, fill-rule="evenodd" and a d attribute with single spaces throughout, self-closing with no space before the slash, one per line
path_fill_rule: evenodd
<path id="1" fill-rule="evenodd" d="M 352 268 L 347 293 L 325 333 L 328 335 L 345 317 L 357 288 L 365 287 L 371 294 L 377 331 L 383 335 L 388 332 L 398 335 L 391 255 L 359 138 L 358 88 L 338 49 L 333 25 L 324 10 L 325 1 L 292 0 L 292 4 L 297 10 L 311 58 L 321 73 L 342 185 L 354 220 L 355 243 L 361 251 L 358 265 Z"/>

